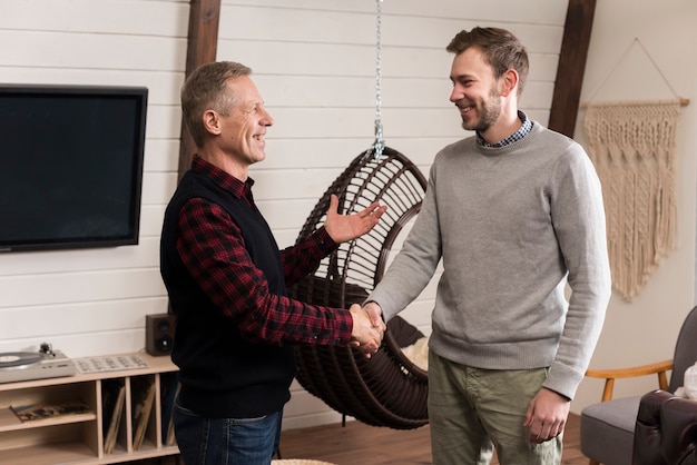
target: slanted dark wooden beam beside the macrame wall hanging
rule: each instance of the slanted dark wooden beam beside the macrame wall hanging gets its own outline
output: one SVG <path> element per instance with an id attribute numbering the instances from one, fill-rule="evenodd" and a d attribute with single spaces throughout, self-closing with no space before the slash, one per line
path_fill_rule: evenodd
<path id="1" fill-rule="evenodd" d="M 568 137 L 576 128 L 595 13 L 596 0 L 569 0 L 548 125 Z"/>

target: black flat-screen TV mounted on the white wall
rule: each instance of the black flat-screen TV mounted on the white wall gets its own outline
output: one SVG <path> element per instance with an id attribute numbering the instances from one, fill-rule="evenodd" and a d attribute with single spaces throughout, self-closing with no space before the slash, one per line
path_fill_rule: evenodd
<path id="1" fill-rule="evenodd" d="M 147 96 L 0 85 L 0 251 L 138 244 Z"/>

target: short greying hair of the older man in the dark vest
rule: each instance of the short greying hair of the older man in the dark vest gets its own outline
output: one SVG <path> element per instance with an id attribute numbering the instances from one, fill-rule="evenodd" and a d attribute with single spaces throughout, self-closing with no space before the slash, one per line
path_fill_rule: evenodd
<path id="1" fill-rule="evenodd" d="M 206 130 L 202 115 L 215 110 L 223 116 L 229 115 L 236 97 L 227 89 L 227 80 L 249 76 L 252 69 L 234 61 L 216 61 L 202 65 L 186 78 L 181 87 L 181 112 L 189 128 L 196 147 L 202 147 Z"/>

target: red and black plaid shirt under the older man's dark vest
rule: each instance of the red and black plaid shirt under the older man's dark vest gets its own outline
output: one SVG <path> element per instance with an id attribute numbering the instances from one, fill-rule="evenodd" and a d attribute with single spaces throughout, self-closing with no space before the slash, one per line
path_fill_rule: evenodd
<path id="1" fill-rule="evenodd" d="M 246 182 L 195 157 L 192 169 L 203 171 L 232 196 L 255 209 L 254 181 Z M 258 211 L 258 210 L 257 210 Z M 247 340 L 345 345 L 353 318 L 346 309 L 313 306 L 269 293 L 264 274 L 254 265 L 242 230 L 220 206 L 204 198 L 189 199 L 179 211 L 177 251 L 210 300 L 235 318 Z M 287 285 L 314 271 L 337 244 L 324 227 L 302 243 L 281 251 Z"/>

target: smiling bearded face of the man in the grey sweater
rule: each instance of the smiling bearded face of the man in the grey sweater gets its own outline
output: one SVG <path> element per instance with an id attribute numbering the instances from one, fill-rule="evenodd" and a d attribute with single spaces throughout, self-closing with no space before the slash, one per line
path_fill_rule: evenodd
<path id="1" fill-rule="evenodd" d="M 460 110 L 462 127 L 485 133 L 499 120 L 502 103 L 500 82 L 481 50 L 470 47 L 457 55 L 450 79 L 453 83 L 450 101 Z"/>

